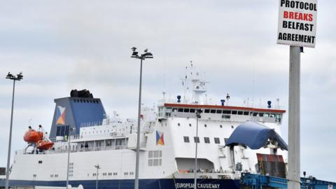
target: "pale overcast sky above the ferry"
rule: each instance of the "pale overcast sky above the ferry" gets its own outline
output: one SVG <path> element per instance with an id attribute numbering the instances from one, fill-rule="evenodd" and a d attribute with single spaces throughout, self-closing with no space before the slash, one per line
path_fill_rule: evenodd
<path id="1" fill-rule="evenodd" d="M 8 71 L 25 76 L 15 88 L 14 153 L 24 148 L 29 124 L 50 130 L 53 99 L 71 89 L 90 90 L 107 113 L 136 118 L 139 61 L 130 58 L 132 46 L 154 55 L 144 62 L 148 106 L 162 91 L 183 93 L 180 78 L 192 60 L 210 82 L 209 98 L 230 93 L 232 101 L 262 105 L 279 98 L 288 110 L 289 47 L 276 45 L 278 0 L 0 3 L 1 167 L 13 87 Z M 316 48 L 301 56 L 301 172 L 329 181 L 336 181 L 335 8 L 334 0 L 318 1 Z M 285 121 L 285 139 L 287 127 Z"/>

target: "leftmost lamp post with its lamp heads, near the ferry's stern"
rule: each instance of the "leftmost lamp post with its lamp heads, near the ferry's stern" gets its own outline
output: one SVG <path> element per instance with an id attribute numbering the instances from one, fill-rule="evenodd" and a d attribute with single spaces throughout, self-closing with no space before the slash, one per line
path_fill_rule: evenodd
<path id="1" fill-rule="evenodd" d="M 6 78 L 13 80 L 12 111 L 10 113 L 10 129 L 9 129 L 8 156 L 7 156 L 7 167 L 6 167 L 6 184 L 5 184 L 5 188 L 8 189 L 8 186 L 9 186 L 10 147 L 11 147 L 11 144 L 12 144 L 15 80 L 22 80 L 23 76 L 22 76 L 22 72 L 20 72 L 16 76 L 13 76 L 12 73 L 8 72 Z"/>

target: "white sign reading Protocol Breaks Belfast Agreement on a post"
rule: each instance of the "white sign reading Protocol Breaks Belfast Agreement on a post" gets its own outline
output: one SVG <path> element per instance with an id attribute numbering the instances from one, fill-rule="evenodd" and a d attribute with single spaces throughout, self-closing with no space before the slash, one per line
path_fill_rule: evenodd
<path id="1" fill-rule="evenodd" d="M 279 0 L 278 44 L 315 48 L 317 0 Z"/>

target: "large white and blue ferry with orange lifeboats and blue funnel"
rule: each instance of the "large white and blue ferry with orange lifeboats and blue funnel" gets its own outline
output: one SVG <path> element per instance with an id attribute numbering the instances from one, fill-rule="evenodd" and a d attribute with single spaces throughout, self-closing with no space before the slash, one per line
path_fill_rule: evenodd
<path id="1" fill-rule="evenodd" d="M 165 99 L 164 94 L 158 106 L 141 107 L 139 188 L 194 188 L 195 172 L 200 189 L 241 188 L 241 173 L 286 176 L 286 144 L 272 140 L 280 136 L 286 111 L 272 102 L 235 106 L 229 94 L 211 103 L 205 97 L 207 82 L 188 82 L 190 99 Z M 264 137 L 258 149 L 232 141 L 235 132 L 243 141 L 251 138 L 248 130 L 254 126 L 274 136 Z M 239 133 L 239 128 L 247 130 Z M 98 182 L 98 188 L 134 188 L 137 132 L 135 119 L 116 112 L 106 116 L 101 99 L 88 90 L 71 90 L 70 97 L 55 99 L 49 134 L 43 127 L 29 127 L 28 145 L 15 151 L 9 185 L 66 186 L 68 176 L 74 187 L 96 188 Z"/>

